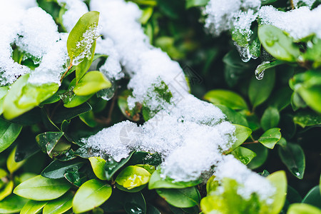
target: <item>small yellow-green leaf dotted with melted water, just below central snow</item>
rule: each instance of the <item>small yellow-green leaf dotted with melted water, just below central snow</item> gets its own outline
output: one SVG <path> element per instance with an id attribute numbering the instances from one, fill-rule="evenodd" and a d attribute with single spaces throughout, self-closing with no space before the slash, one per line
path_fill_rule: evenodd
<path id="1" fill-rule="evenodd" d="M 131 190 L 147 184 L 150 177 L 151 173 L 148 170 L 135 165 L 129 165 L 118 174 L 116 183 Z"/>

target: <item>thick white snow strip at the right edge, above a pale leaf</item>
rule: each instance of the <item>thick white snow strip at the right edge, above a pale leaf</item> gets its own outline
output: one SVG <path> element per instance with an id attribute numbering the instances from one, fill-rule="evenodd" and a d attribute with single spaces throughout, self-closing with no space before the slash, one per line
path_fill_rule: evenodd
<path id="1" fill-rule="evenodd" d="M 310 11 L 302 6 L 292 11 L 278 11 L 272 6 L 263 6 L 259 11 L 262 24 L 271 24 L 286 31 L 294 39 L 316 34 L 321 39 L 321 6 Z"/>

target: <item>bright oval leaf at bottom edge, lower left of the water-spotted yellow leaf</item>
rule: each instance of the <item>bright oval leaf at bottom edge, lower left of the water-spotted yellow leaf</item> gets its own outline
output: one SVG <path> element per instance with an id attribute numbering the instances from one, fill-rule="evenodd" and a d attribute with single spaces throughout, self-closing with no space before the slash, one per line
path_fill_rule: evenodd
<path id="1" fill-rule="evenodd" d="M 111 196 L 111 185 L 102 180 L 83 183 L 73 198 L 73 212 L 83 213 L 103 204 Z"/>

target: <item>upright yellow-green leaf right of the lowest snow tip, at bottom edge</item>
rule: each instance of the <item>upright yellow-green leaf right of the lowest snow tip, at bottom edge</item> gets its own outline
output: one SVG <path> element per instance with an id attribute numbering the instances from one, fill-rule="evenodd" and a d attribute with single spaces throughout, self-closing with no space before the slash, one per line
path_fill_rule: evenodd
<path id="1" fill-rule="evenodd" d="M 270 213 L 280 213 L 285 203 L 287 194 L 287 178 L 284 171 L 277 171 L 267 176 L 267 180 L 275 187 L 275 195 L 273 203 L 270 205 Z"/>

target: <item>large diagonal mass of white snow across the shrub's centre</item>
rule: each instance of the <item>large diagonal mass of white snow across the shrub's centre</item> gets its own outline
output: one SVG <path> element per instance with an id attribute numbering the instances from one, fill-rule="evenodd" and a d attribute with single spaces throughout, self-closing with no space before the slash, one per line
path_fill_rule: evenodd
<path id="1" fill-rule="evenodd" d="M 255 2 L 244 1 L 241 5 L 253 6 Z M 133 97 L 128 104 L 133 107 L 136 102 L 144 103 L 158 113 L 141 126 L 125 121 L 104 128 L 83 138 L 86 146 L 93 148 L 96 155 L 108 155 L 115 161 L 128 157 L 131 151 L 160 153 L 161 176 L 175 181 L 196 180 L 216 165 L 215 175 L 220 180 L 228 177 L 241 183 L 239 192 L 244 198 L 251 193 L 269 198 L 274 190 L 265 178 L 233 156 L 222 155 L 235 141 L 235 126 L 225 121 L 225 115 L 213 104 L 190 95 L 179 64 L 148 44 L 138 22 L 138 6 L 122 0 L 92 0 L 91 9 L 101 11 L 102 34 L 113 41 L 121 64 L 131 77 L 128 88 L 133 90 Z M 153 94 L 155 87 L 163 87 L 162 82 L 173 96 L 169 102 Z M 233 168 L 227 167 L 230 165 Z M 242 178 L 236 178 L 235 168 Z M 260 190 L 258 186 L 266 188 Z"/>

